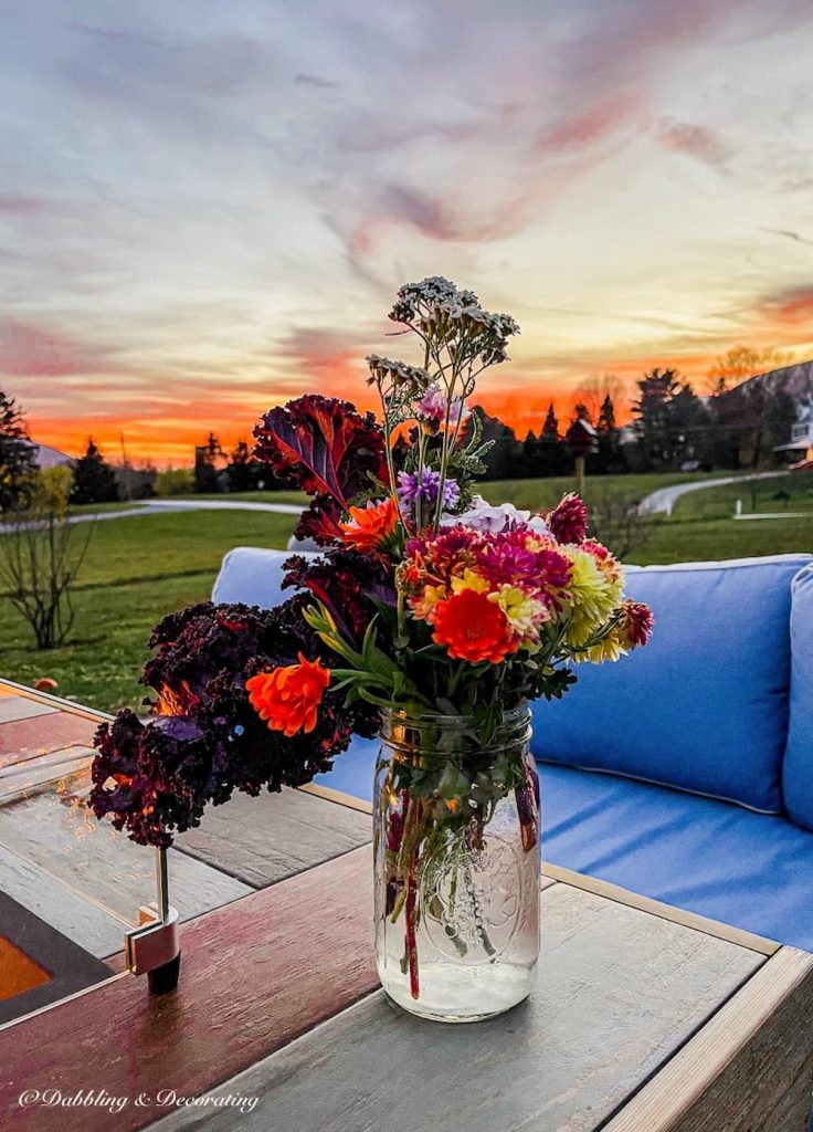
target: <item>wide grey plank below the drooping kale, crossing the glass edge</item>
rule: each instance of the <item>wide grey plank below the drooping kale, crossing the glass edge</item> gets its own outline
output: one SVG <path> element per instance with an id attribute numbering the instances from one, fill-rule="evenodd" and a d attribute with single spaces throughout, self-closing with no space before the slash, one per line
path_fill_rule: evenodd
<path id="1" fill-rule="evenodd" d="M 1 806 L 0 844 L 113 915 L 137 923 L 138 907 L 155 900 L 155 854 L 116 833 L 109 822 L 97 822 L 85 804 L 86 794 L 83 786 Z M 174 849 L 167 859 L 170 899 L 182 919 L 252 891 Z"/>

